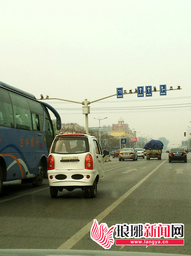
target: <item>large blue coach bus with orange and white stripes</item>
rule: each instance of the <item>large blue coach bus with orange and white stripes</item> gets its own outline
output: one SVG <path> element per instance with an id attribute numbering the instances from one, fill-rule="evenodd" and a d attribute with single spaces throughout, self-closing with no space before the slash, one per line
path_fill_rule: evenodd
<path id="1" fill-rule="evenodd" d="M 42 184 L 54 139 L 48 109 L 61 129 L 60 116 L 49 104 L 0 82 L 0 193 L 3 182 Z"/>

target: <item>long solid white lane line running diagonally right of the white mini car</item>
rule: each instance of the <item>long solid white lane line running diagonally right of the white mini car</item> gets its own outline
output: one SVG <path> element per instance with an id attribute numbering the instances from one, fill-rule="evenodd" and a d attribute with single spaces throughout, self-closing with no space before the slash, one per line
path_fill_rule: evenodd
<path id="1" fill-rule="evenodd" d="M 96 219 L 98 222 L 101 222 L 103 218 L 105 218 L 111 211 L 113 211 L 121 202 L 123 202 L 127 196 L 129 196 L 135 189 L 137 189 L 143 182 L 146 181 L 146 179 L 152 175 L 162 164 L 158 165 L 155 169 L 153 169 L 152 172 L 150 172 L 148 175 L 146 175 L 140 182 L 138 182 L 136 185 L 133 186 L 133 188 L 129 189 L 125 194 L 121 195 L 120 198 L 118 198 L 115 202 L 113 202 L 108 208 L 106 208 L 104 211 L 102 211 L 99 215 L 97 215 L 94 219 Z M 59 246 L 57 249 L 71 249 L 76 243 L 78 243 L 83 236 L 89 233 L 91 230 L 91 227 L 93 225 L 94 219 L 91 220 L 88 224 L 86 224 L 82 229 L 80 229 L 76 234 L 71 236 L 66 242 L 64 242 L 61 246 Z"/>

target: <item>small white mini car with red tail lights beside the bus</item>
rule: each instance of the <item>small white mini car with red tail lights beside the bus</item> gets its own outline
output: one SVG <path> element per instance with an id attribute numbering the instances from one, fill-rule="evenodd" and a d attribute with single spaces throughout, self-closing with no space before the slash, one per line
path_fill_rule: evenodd
<path id="1" fill-rule="evenodd" d="M 104 156 L 96 137 L 86 134 L 57 135 L 48 157 L 51 197 L 58 191 L 82 189 L 86 197 L 96 197 L 97 183 L 104 177 Z"/>

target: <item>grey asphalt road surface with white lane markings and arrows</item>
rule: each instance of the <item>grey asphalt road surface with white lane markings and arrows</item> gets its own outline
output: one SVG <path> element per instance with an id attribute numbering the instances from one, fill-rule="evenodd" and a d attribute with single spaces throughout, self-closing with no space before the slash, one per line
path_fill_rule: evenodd
<path id="1" fill-rule="evenodd" d="M 190 153 L 189 153 L 190 154 Z M 191 161 L 138 159 L 105 162 L 96 198 L 83 191 L 59 192 L 53 199 L 48 180 L 40 188 L 6 184 L 0 197 L 0 249 L 95 249 L 93 220 L 117 223 L 184 223 L 184 246 L 116 246 L 110 250 L 191 253 Z M 114 232 L 114 234 L 116 234 Z"/>

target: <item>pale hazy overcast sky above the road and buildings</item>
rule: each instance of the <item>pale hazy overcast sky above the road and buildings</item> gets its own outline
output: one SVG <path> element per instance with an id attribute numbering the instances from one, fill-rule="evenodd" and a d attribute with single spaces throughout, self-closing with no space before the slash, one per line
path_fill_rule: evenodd
<path id="1" fill-rule="evenodd" d="M 166 96 L 92 103 L 89 115 L 89 127 L 122 118 L 140 135 L 178 145 L 191 132 L 191 0 L 0 0 L 0 81 L 74 101 L 180 85 Z M 82 105 L 46 102 L 64 108 L 63 123 L 85 126 Z"/>

